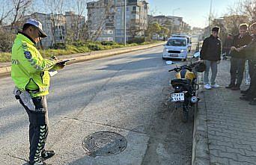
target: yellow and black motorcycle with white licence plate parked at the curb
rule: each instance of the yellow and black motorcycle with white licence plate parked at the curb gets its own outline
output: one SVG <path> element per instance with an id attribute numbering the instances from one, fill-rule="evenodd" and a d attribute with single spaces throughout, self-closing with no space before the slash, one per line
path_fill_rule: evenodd
<path id="1" fill-rule="evenodd" d="M 202 66 L 203 65 L 203 66 Z M 174 104 L 175 108 L 181 108 L 183 110 L 183 122 L 187 122 L 189 119 L 189 109 L 195 107 L 195 104 L 199 101 L 196 96 L 196 90 L 199 89 L 199 85 L 196 84 L 196 73 L 204 70 L 204 63 L 196 61 L 190 63 L 190 65 L 176 66 L 174 69 L 168 72 L 175 71 L 175 79 L 171 80 L 171 86 L 174 88 L 174 92 L 170 93 L 168 101 Z M 200 70 L 201 69 L 201 70 Z M 204 71 L 203 71 L 204 72 Z"/>

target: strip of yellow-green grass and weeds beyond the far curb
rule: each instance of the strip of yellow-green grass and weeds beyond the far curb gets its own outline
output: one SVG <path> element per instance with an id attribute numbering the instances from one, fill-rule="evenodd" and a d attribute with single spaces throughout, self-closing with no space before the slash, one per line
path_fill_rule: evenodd
<path id="1" fill-rule="evenodd" d="M 141 44 L 130 43 L 130 44 L 127 44 L 126 47 L 146 45 L 146 44 L 150 44 L 150 42 L 144 42 Z M 43 57 L 52 57 L 53 55 L 55 56 L 71 55 L 76 53 L 85 53 L 85 52 L 117 49 L 117 48 L 124 48 L 124 47 L 125 46 L 123 44 L 118 44 L 118 43 L 111 43 L 111 44 L 109 43 L 102 44 L 100 42 L 79 43 L 79 44 L 73 43 L 73 44 L 67 45 L 66 49 L 45 49 L 45 50 L 40 50 L 40 53 L 41 55 L 43 55 Z M 11 60 L 11 53 L 0 52 L 0 63 L 9 62 L 10 60 Z"/>

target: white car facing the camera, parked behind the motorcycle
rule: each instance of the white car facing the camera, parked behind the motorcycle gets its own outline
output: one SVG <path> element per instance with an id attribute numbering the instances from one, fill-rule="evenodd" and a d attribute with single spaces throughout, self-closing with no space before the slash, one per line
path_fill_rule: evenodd
<path id="1" fill-rule="evenodd" d="M 162 59 L 186 60 L 190 52 L 190 46 L 186 37 L 171 37 L 164 45 Z"/>

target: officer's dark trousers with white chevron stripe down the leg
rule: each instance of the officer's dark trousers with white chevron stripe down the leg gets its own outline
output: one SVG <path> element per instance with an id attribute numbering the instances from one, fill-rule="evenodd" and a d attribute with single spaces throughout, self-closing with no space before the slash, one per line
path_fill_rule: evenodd
<path id="1" fill-rule="evenodd" d="M 25 108 L 29 118 L 29 161 L 31 163 L 41 161 L 41 152 L 44 149 L 48 135 L 48 110 L 46 96 L 32 98 L 34 110 L 29 110 L 23 102 L 19 102 Z"/>

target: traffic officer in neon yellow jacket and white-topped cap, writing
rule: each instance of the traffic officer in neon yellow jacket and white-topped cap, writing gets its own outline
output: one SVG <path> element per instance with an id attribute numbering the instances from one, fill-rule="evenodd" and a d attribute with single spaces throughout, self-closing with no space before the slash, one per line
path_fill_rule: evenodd
<path id="1" fill-rule="evenodd" d="M 49 93 L 49 69 L 62 69 L 57 58 L 43 59 L 36 48 L 41 38 L 47 37 L 42 24 L 28 19 L 22 32 L 16 35 L 12 48 L 11 78 L 16 85 L 16 99 L 25 108 L 29 118 L 29 164 L 46 164 L 45 159 L 55 155 L 44 149 L 48 134 L 46 95 Z M 24 99 L 25 98 L 25 99 Z M 31 102 L 29 102 L 31 100 Z"/>

